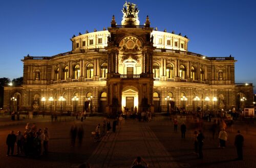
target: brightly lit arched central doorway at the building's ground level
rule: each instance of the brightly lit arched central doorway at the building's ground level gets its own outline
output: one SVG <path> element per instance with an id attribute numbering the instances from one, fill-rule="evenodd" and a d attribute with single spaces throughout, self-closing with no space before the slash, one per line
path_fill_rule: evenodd
<path id="1" fill-rule="evenodd" d="M 138 89 L 134 87 L 126 87 L 122 92 L 122 111 L 126 108 L 129 111 L 134 111 L 134 108 L 139 108 Z"/>

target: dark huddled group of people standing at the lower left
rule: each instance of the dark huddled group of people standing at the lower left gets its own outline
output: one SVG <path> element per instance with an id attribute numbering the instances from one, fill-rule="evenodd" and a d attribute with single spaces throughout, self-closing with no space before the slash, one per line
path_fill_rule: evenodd
<path id="1" fill-rule="evenodd" d="M 48 154 L 49 132 L 46 127 L 44 130 L 37 129 L 33 123 L 27 123 L 25 131 L 12 130 L 6 138 L 7 156 L 14 155 L 15 145 L 17 147 L 16 155 L 24 155 L 26 157 L 39 157 L 42 154 Z"/>

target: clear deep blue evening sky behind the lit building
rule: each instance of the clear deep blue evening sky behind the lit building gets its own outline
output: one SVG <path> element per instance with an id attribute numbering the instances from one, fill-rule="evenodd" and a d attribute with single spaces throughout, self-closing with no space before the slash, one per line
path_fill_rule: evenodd
<path id="1" fill-rule="evenodd" d="M 236 63 L 236 82 L 256 86 L 256 1 L 183 0 L 131 1 L 139 20 L 150 16 L 159 31 L 175 31 L 190 39 L 188 50 L 207 57 L 229 57 Z M 0 77 L 23 76 L 22 60 L 71 50 L 73 34 L 121 22 L 125 1 L 9 0 L 0 5 Z M 255 90 L 255 89 L 254 89 Z"/>

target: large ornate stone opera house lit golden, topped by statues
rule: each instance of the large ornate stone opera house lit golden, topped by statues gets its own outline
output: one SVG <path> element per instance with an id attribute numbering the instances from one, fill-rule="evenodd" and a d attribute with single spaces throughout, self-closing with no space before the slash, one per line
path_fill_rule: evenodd
<path id="1" fill-rule="evenodd" d="M 108 30 L 73 36 L 70 52 L 24 57 L 24 83 L 5 87 L 4 108 L 116 113 L 136 106 L 158 113 L 253 105 L 252 83 L 235 83 L 231 55 L 189 52 L 186 36 L 153 30 L 148 17 L 139 25 L 135 4 L 122 12 L 121 25 L 113 16 Z"/>

